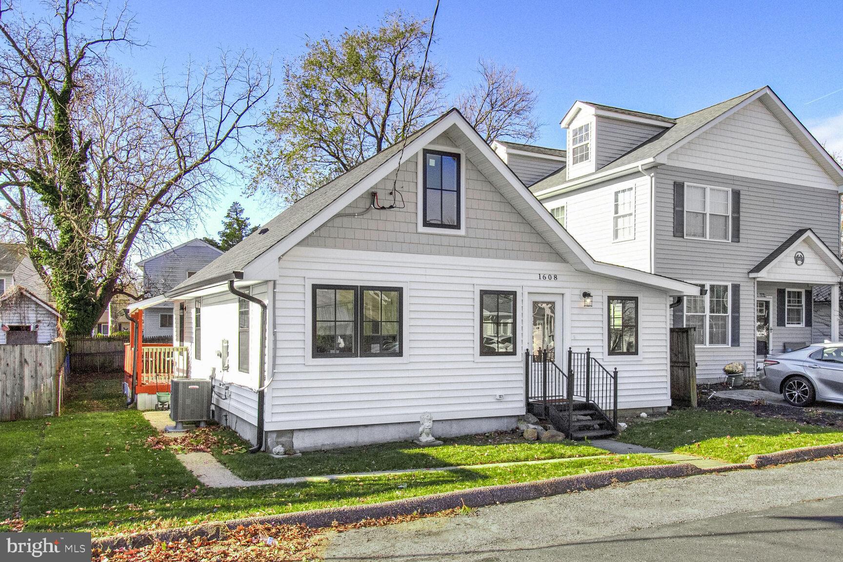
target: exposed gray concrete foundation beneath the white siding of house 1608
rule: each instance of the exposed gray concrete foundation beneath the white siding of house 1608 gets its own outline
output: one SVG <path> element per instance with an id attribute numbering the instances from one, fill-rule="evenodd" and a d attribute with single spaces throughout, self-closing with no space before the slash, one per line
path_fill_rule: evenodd
<path id="1" fill-rule="evenodd" d="M 252 444 L 257 439 L 255 424 L 240 418 L 216 405 L 214 420 L 231 427 L 239 436 Z M 518 424 L 518 416 L 496 416 L 488 418 L 467 418 L 463 420 L 436 420 L 433 422 L 432 435 L 438 439 L 487 433 L 489 431 L 509 431 Z M 412 441 L 418 438 L 419 423 L 373 424 L 368 426 L 318 427 L 312 429 L 266 431 L 266 450 L 282 445 L 285 449 L 297 451 L 321 451 L 341 447 L 360 447 L 375 443 Z"/>

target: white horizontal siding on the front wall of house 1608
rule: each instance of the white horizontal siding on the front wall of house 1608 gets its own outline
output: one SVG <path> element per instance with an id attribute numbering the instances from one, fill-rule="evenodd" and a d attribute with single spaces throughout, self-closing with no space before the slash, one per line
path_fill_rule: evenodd
<path id="1" fill-rule="evenodd" d="M 557 281 L 542 274 L 556 273 Z M 418 422 L 524 413 L 525 299 L 530 292 L 565 297 L 564 346 L 590 348 L 620 372 L 620 407 L 669 404 L 668 298 L 558 262 L 491 260 L 297 247 L 279 265 L 275 377 L 267 430 Z M 309 360 L 308 283 L 405 283 L 405 357 Z M 518 354 L 479 356 L 479 290 L 518 293 Z M 581 294 L 593 293 L 583 308 Z M 605 357 L 606 295 L 642 293 L 640 354 Z M 207 306 L 203 310 L 207 313 Z M 531 336 L 531 335 L 530 335 Z M 562 346 L 562 345 L 560 345 Z M 496 399 L 502 394 L 503 399 Z"/>

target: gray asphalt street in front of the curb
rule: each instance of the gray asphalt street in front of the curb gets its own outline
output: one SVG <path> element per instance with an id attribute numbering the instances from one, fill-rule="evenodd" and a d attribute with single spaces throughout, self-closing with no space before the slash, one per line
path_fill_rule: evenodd
<path id="1" fill-rule="evenodd" d="M 326 560 L 843 559 L 843 460 L 489 506 L 341 533 Z"/>

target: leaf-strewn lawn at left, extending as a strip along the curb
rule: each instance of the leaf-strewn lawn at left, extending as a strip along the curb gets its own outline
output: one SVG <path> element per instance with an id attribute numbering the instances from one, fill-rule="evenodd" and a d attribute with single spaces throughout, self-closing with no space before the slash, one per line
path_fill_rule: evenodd
<path id="1" fill-rule="evenodd" d="M 119 382 L 113 384 L 119 388 Z M 85 403 L 96 408 L 119 404 L 114 388 L 105 383 L 91 383 L 86 392 L 72 395 L 85 396 Z M 120 407 L 85 412 L 78 403 L 68 404 L 68 414 L 49 422 L 3 424 L 3 510 L 14 511 L 15 492 L 26 486 L 20 501 L 24 531 L 89 531 L 102 536 L 662 463 L 646 455 L 609 455 L 564 463 L 211 489 L 169 449 L 147 447 L 153 428 L 137 410 Z"/>

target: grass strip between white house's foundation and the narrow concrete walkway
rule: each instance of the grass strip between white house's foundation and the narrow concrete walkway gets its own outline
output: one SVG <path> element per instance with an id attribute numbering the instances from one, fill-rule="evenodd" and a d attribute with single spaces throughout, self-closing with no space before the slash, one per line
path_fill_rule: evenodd
<path id="1" fill-rule="evenodd" d="M 241 452 L 223 454 L 240 446 Z M 525 442 L 513 434 L 487 434 L 448 439 L 438 447 L 419 447 L 412 442 L 384 443 L 333 451 L 305 452 L 297 458 L 274 458 L 266 452 L 242 452 L 246 446 L 234 431 L 223 433 L 223 444 L 214 456 L 245 480 L 348 474 L 405 468 L 442 468 L 475 464 L 512 463 L 551 458 L 575 458 L 608 454 L 603 449 L 577 442 Z"/>

